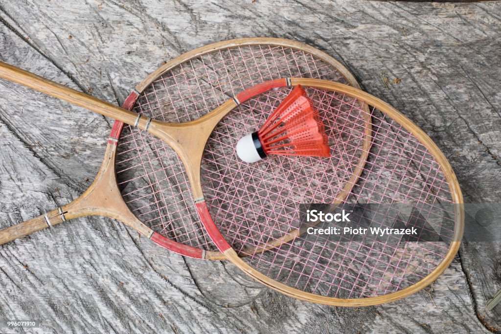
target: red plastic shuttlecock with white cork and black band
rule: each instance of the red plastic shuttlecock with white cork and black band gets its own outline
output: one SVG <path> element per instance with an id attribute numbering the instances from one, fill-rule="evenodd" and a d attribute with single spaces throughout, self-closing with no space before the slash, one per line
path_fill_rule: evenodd
<path id="1" fill-rule="evenodd" d="M 324 124 L 300 85 L 282 101 L 260 130 L 238 141 L 236 154 L 248 163 L 271 154 L 331 156 Z"/>

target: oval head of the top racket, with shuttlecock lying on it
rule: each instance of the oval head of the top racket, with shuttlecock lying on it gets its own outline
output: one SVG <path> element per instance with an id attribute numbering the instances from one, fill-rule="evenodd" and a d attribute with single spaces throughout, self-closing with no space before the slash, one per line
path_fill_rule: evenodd
<path id="1" fill-rule="evenodd" d="M 333 241 L 300 233 L 300 203 L 335 203 L 343 191 L 339 187 L 342 182 L 332 183 L 336 189 L 329 188 L 324 175 L 315 170 L 317 166 L 325 171 L 325 161 L 280 157 L 279 161 L 265 159 L 249 165 L 232 151 L 246 132 L 241 130 L 243 122 L 266 119 L 270 109 L 290 91 L 280 84 L 272 90 L 240 94 L 238 100 L 244 103 L 221 119 L 206 143 L 200 172 L 205 201 L 196 205 L 212 240 L 245 273 L 303 300 L 339 306 L 375 305 L 430 284 L 457 253 L 464 224 L 461 191 L 444 155 L 412 121 L 370 94 L 316 79 L 293 78 L 292 84 L 305 88 L 323 114 L 330 144 L 335 146 L 331 147 L 334 156 L 350 145 L 368 154 L 358 182 L 340 202 L 409 203 L 423 210 L 428 204 L 450 204 L 450 211 L 441 217 L 447 238 L 401 244 L 374 239 Z M 335 110 L 337 117 L 330 123 L 332 115 L 325 114 L 329 109 Z M 250 111 L 260 117 L 235 121 Z M 366 142 L 361 125 L 367 115 L 372 119 L 369 148 L 360 144 Z M 357 124 L 358 130 L 354 127 Z M 343 154 L 350 155 L 348 151 Z M 291 171 L 293 178 L 288 177 Z M 303 187 L 301 178 L 310 183 Z M 309 194 L 311 185 L 320 190 Z M 264 247 L 277 239 L 282 242 Z M 239 257 L 249 245 L 267 251 Z"/>

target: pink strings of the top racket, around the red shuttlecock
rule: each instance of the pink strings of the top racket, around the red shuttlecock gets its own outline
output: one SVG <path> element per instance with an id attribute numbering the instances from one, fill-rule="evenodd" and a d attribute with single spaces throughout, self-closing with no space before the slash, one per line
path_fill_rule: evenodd
<path id="1" fill-rule="evenodd" d="M 382 221 L 390 222 L 395 203 L 413 204 L 430 223 L 426 229 L 440 231 L 441 239 L 426 241 L 424 234 L 412 242 L 396 236 L 330 239 L 303 233 L 267 251 L 249 253 L 245 261 L 279 282 L 330 297 L 384 295 L 416 283 L 445 257 L 454 234 L 452 196 L 443 170 L 417 138 L 377 109 L 368 111 L 343 94 L 306 90 L 322 117 L 332 157 L 241 162 L 234 153 L 238 139 L 262 124 L 290 89 L 246 102 L 216 127 L 204 153 L 202 186 L 214 222 L 240 252 L 299 229 L 301 203 L 333 203 L 348 182 L 370 116 L 367 163 L 344 202 L 379 204 Z"/>

